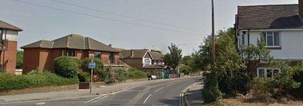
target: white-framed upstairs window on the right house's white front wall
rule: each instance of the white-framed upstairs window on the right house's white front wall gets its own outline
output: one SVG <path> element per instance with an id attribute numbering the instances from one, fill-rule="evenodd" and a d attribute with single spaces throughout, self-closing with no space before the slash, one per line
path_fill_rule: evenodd
<path id="1" fill-rule="evenodd" d="M 261 35 L 267 47 L 280 47 L 279 32 L 261 32 Z"/>

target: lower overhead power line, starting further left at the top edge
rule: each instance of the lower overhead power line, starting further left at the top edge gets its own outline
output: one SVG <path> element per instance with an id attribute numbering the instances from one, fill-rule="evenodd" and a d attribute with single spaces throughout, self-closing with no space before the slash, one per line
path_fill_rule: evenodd
<path id="1" fill-rule="evenodd" d="M 116 21 L 116 22 L 120 22 L 120 23 L 126 23 L 126 24 L 132 24 L 132 25 L 144 26 L 144 27 L 150 27 L 150 28 L 161 29 L 161 30 L 169 30 L 169 31 L 181 32 L 181 33 L 190 33 L 190 34 L 195 34 L 195 35 L 202 35 L 201 33 L 185 32 L 185 31 L 179 31 L 179 30 L 173 30 L 173 29 L 167 29 L 167 28 L 161 28 L 161 27 L 154 27 L 154 26 L 149 26 L 149 25 L 144 25 L 144 24 L 131 23 L 131 22 L 126 22 L 126 21 L 121 21 L 121 20 L 115 20 L 115 19 L 105 18 L 105 17 L 101 17 L 101 16 L 95 16 L 95 15 L 90 15 L 90 14 L 86 14 L 86 13 L 74 12 L 74 11 L 70 11 L 70 10 L 66 10 L 66 9 L 60 9 L 60 8 L 55 8 L 55 7 L 40 5 L 40 4 L 36 4 L 36 3 L 32 3 L 32 2 L 27 2 L 27 1 L 20 1 L 20 0 L 14 0 L 14 1 L 22 2 L 22 3 L 27 3 L 27 4 L 32 4 L 32 5 L 41 6 L 41 7 L 46 7 L 46 8 L 52 8 L 52 9 L 61 10 L 61 11 L 65 11 L 65 12 L 71 12 L 71 13 L 76 13 L 76 14 L 81 14 L 81 15 L 86 15 L 86 16 L 91 16 L 91 17 L 106 19 L 106 20 L 112 20 L 112 21 Z"/>

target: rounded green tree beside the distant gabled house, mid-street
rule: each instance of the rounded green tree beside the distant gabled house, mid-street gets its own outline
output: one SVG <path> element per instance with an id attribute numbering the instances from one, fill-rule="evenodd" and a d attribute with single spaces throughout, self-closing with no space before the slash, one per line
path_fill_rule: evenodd
<path id="1" fill-rule="evenodd" d="M 164 64 L 168 69 L 172 68 L 175 70 L 182 58 L 182 50 L 173 43 L 168 46 L 168 50 L 169 53 L 166 53 L 163 57 Z"/>

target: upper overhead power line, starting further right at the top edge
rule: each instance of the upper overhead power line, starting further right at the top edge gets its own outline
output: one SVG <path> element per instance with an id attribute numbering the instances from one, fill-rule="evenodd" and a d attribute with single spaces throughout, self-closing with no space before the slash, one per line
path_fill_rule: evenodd
<path id="1" fill-rule="evenodd" d="M 205 30 L 199 30 L 199 29 L 193 29 L 193 28 L 186 28 L 186 27 L 182 27 L 182 26 L 171 25 L 171 24 L 165 24 L 165 23 L 161 23 L 161 22 L 156 22 L 156 21 L 141 19 L 141 18 L 132 17 L 132 16 L 126 16 L 126 15 L 122 15 L 122 14 L 118 14 L 118 13 L 107 12 L 107 11 L 103 11 L 103 10 L 100 10 L 100 9 L 89 8 L 89 7 L 85 7 L 85 6 L 81 6 L 81 5 L 76 5 L 76 4 L 72 4 L 72 3 L 68 3 L 68 2 L 58 1 L 58 0 L 50 0 L 50 1 L 58 2 L 58 3 L 63 3 L 63 4 L 68 4 L 68 5 L 72 5 L 72 6 L 77 6 L 77 7 L 81 7 L 81 8 L 85 8 L 85 9 L 89 9 L 89 10 L 100 11 L 100 12 L 104 12 L 104 13 L 108 13 L 108 14 L 123 16 L 123 17 L 131 18 L 131 19 L 146 21 L 146 22 L 150 22 L 150 23 L 157 23 L 157 24 L 161 24 L 161 25 L 173 26 L 173 27 L 177 27 L 177 28 L 183 28 L 183 29 L 189 29 L 189 30 L 195 30 L 195 31 L 209 32 L 209 31 L 205 31 Z"/>

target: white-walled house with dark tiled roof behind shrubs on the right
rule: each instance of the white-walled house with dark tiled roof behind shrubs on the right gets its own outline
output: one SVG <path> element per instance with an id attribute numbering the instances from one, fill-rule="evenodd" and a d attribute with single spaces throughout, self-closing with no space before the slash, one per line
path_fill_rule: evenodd
<path id="1" fill-rule="evenodd" d="M 237 47 L 256 45 L 261 37 L 275 60 L 303 61 L 303 0 L 299 4 L 238 6 L 235 15 Z M 243 56 L 245 59 L 245 56 Z M 258 60 L 245 60 L 249 72 L 257 77 L 273 77 L 279 68 Z"/>

